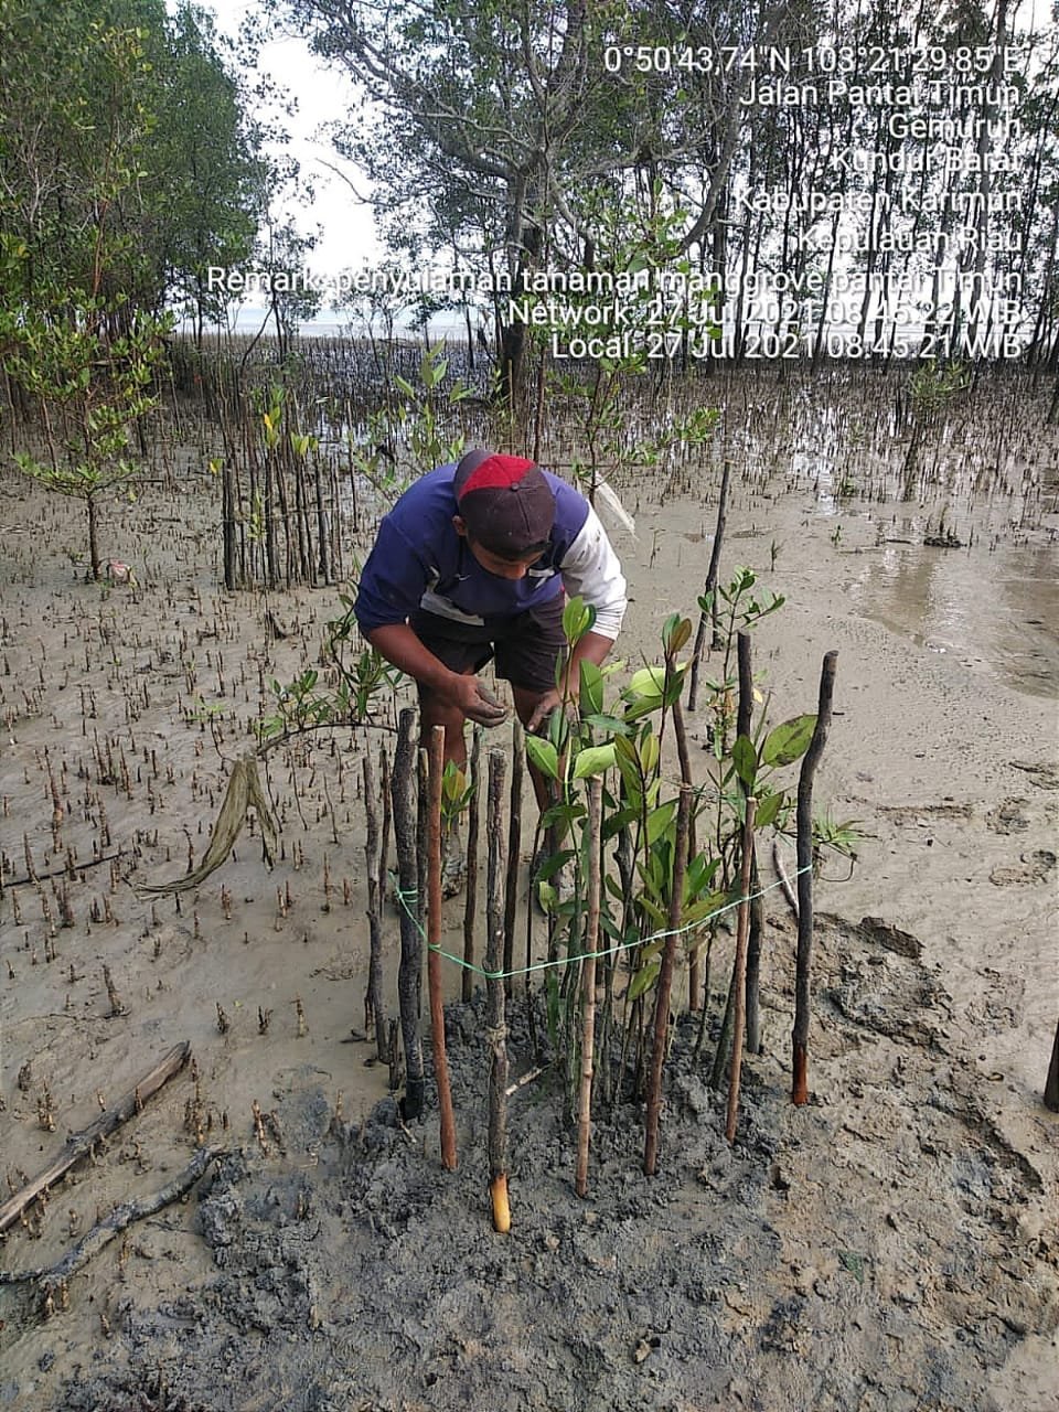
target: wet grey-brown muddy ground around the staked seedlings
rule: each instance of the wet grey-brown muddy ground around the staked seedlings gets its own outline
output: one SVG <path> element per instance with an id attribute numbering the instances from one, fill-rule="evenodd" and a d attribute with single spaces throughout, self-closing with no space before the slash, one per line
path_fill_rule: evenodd
<path id="1" fill-rule="evenodd" d="M 487 1210 L 480 1001 L 446 1027 L 455 1175 L 433 1118 L 397 1123 L 384 1067 L 352 1035 L 367 959 L 359 738 L 274 755 L 273 873 L 244 839 L 179 909 L 130 885 L 202 856 L 225 761 L 247 748 L 267 679 L 315 658 L 335 590 L 219 592 L 216 486 L 188 472 L 106 507 L 109 552 L 137 586 L 86 585 L 78 507 L 3 481 L 8 1189 L 172 1045 L 193 1052 L 34 1204 L 3 1269 L 55 1265 L 178 1176 L 199 1137 L 223 1156 L 73 1275 L 68 1309 L 47 1317 L 40 1282 L 0 1288 L 0 1406 L 1059 1408 L 1059 1142 L 1041 1103 L 1059 1012 L 1059 457 L 1043 402 L 1001 391 L 1017 412 L 1003 446 L 983 400 L 907 501 L 887 479 L 902 448 L 885 417 L 857 428 L 849 401 L 798 394 L 778 425 L 772 384 L 729 390 L 747 431 L 727 442 L 743 469 L 724 566 L 753 563 L 788 594 L 755 635 L 774 720 L 813 709 L 820 657 L 839 648 L 818 798 L 864 833 L 851 880 L 829 866 L 818 885 L 813 1101 L 786 1100 L 794 928 L 774 891 L 765 1052 L 744 1069 L 734 1149 L 706 1082 L 712 1034 L 696 1062 L 682 1021 L 658 1176 L 641 1173 L 642 1114 L 618 1106 L 600 1114 L 579 1200 L 544 1073 L 510 1103 L 505 1238 Z M 716 484 L 709 465 L 621 487 L 638 528 L 635 544 L 614 528 L 633 665 L 657 659 L 669 611 L 695 607 Z M 942 515 L 964 548 L 923 544 Z M 267 640 L 268 614 L 282 640 Z M 692 729 L 702 744 L 705 719 Z M 68 850 L 64 897 L 45 874 Z M 462 908 L 448 908 L 456 939 Z M 393 947 L 394 916 L 388 929 Z M 729 955 L 722 936 L 712 1031 Z M 455 1000 L 455 969 L 448 981 Z M 511 1055 L 513 1077 L 538 1067 L 521 998 Z"/>

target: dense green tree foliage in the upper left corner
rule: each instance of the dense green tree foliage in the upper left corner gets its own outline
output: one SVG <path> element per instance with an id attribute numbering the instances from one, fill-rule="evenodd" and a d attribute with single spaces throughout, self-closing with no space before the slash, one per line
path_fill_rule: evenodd
<path id="1" fill-rule="evenodd" d="M 210 264 L 246 260 L 261 133 L 210 16 L 164 0 L 0 4 L 0 260 L 8 316 L 64 295 L 109 318 L 223 312 Z"/>

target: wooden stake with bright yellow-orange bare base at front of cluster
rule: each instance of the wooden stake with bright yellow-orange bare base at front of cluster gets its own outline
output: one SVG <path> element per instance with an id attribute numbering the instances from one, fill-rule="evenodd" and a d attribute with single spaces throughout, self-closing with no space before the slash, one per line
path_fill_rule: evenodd
<path id="1" fill-rule="evenodd" d="M 504 1014 L 504 979 L 500 974 L 504 955 L 504 775 L 503 750 L 489 753 L 489 795 L 486 798 L 486 834 L 489 871 L 486 891 L 486 1025 L 493 1053 L 489 1069 L 489 1195 L 493 1202 L 493 1228 L 501 1236 L 511 1228 L 507 1193 L 507 1021 Z"/>

